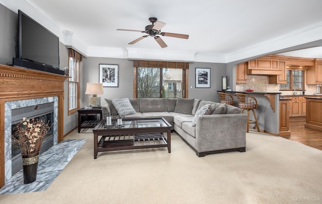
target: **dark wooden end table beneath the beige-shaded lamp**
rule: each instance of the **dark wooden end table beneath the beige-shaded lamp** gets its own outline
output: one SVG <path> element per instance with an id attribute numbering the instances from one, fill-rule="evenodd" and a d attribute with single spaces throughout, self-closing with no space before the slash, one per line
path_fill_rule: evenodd
<path id="1" fill-rule="evenodd" d="M 78 112 L 78 133 L 81 132 L 81 128 L 93 128 L 95 127 L 101 119 L 103 119 L 102 109 L 99 108 L 92 108 L 92 109 L 85 109 L 81 108 L 77 110 Z M 89 114 L 100 114 L 99 120 L 88 120 Z M 85 115 L 86 119 L 82 122 L 82 115 Z"/>

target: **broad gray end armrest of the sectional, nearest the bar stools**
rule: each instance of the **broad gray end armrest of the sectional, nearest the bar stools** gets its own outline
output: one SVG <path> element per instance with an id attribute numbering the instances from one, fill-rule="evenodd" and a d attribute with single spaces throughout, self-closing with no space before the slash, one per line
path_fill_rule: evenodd
<path id="1" fill-rule="evenodd" d="M 247 114 L 218 114 L 198 117 L 196 150 L 207 152 L 246 147 Z"/>

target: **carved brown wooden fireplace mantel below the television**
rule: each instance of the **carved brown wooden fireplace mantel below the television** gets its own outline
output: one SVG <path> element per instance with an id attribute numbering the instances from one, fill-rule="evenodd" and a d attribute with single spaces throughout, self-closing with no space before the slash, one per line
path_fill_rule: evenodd
<path id="1" fill-rule="evenodd" d="M 64 81 L 68 77 L 0 64 L 0 188 L 5 184 L 5 102 L 58 96 L 58 142 L 63 140 Z"/>

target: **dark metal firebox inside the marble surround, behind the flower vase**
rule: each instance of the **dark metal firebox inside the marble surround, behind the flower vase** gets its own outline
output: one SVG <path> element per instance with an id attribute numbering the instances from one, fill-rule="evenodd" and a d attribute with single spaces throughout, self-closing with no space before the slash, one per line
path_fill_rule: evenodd
<path id="1" fill-rule="evenodd" d="M 53 102 L 13 109 L 11 111 L 11 123 L 12 123 L 11 134 L 13 135 L 15 133 L 16 124 L 19 123 L 24 117 L 28 119 L 32 119 L 32 118 L 35 118 L 38 120 L 44 119 L 45 123 L 48 122 L 50 125 L 53 124 L 53 109 L 54 109 Z M 50 128 L 42 141 L 40 154 L 44 153 L 54 145 L 53 135 L 54 135 L 53 128 Z M 11 172 L 13 176 L 18 171 L 20 171 L 23 167 L 21 151 L 18 143 L 15 142 L 14 140 L 12 140 L 12 143 L 11 143 L 11 158 L 12 158 Z"/>

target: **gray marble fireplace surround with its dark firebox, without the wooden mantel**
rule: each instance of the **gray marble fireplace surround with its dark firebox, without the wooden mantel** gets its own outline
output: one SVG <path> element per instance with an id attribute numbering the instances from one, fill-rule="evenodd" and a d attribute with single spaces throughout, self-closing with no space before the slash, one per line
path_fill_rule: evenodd
<path id="1" fill-rule="evenodd" d="M 52 121 L 53 125 L 44 138 L 41 153 L 57 144 L 57 109 L 58 97 L 44 97 L 35 99 L 25 99 L 18 101 L 8 101 L 5 103 L 5 176 L 6 181 L 22 168 L 20 150 L 12 148 L 11 138 L 13 125 L 20 122 L 23 117 L 45 117 Z"/>

